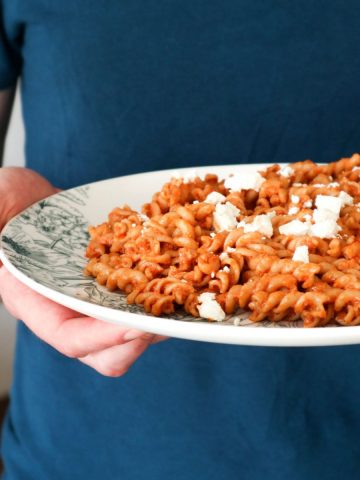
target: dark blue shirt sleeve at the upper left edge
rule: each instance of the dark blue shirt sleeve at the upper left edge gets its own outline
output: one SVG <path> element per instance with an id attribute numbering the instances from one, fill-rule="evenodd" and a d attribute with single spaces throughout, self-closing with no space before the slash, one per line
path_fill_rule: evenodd
<path id="1" fill-rule="evenodd" d="M 0 0 L 0 90 L 16 84 L 22 64 L 22 28 L 13 21 L 13 12 L 6 3 Z"/>

